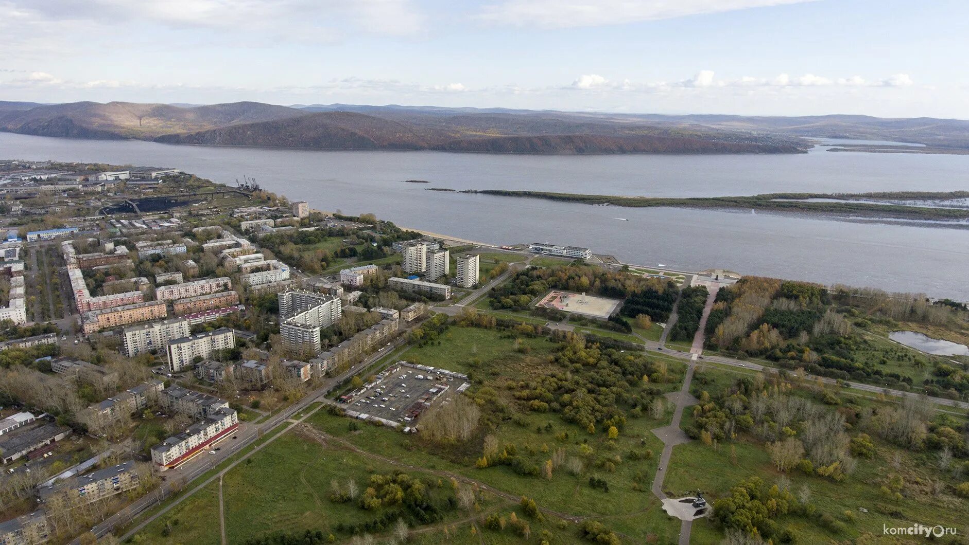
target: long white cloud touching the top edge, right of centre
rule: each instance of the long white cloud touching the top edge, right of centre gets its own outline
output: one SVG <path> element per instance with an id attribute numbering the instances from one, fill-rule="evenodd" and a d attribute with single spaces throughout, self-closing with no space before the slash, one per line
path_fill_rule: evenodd
<path id="1" fill-rule="evenodd" d="M 733 12 L 813 0 L 504 0 L 480 19 L 516 26 L 571 28 Z"/>

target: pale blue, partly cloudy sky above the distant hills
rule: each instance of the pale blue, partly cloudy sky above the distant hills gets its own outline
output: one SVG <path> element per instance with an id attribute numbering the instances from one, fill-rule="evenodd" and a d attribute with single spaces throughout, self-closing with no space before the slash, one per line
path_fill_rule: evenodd
<path id="1" fill-rule="evenodd" d="M 0 0 L 0 100 L 969 119 L 962 0 Z"/>

